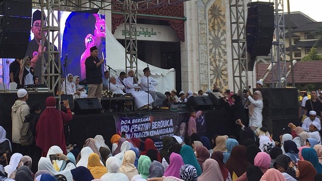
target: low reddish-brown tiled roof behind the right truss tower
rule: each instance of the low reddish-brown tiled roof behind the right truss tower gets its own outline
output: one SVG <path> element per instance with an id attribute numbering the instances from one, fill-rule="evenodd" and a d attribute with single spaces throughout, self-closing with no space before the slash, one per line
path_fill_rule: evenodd
<path id="1" fill-rule="evenodd" d="M 258 64 L 256 65 L 256 80 L 263 78 L 270 64 Z M 289 69 L 290 63 L 286 63 L 286 72 Z M 275 65 L 276 67 L 276 65 Z M 322 60 L 296 62 L 294 65 L 294 82 L 295 83 L 322 83 Z M 276 76 L 274 75 L 274 79 Z M 288 84 L 291 83 L 291 73 L 287 77 Z M 265 84 L 272 83 L 272 71 L 268 74 L 263 81 Z"/>

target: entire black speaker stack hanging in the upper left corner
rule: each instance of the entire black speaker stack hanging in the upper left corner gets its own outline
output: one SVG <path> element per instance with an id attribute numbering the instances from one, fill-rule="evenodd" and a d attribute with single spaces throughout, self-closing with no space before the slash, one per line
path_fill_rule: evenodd
<path id="1" fill-rule="evenodd" d="M 0 58 L 23 58 L 31 28 L 32 0 L 0 0 Z"/>

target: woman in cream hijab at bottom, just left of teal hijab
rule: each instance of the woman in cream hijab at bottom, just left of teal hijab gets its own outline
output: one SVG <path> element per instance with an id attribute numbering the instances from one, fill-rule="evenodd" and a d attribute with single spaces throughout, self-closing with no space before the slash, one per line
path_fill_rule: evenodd
<path id="1" fill-rule="evenodd" d="M 133 150 L 126 151 L 124 154 L 122 166 L 120 167 L 120 172 L 126 174 L 129 180 L 131 180 L 134 175 L 139 174 L 134 165 L 135 158 L 136 155 Z"/>

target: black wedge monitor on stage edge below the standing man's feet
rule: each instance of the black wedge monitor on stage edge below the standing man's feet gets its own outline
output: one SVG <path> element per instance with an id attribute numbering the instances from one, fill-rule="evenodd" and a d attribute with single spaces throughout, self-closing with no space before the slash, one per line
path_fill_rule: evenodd
<path id="1" fill-rule="evenodd" d="M 96 114 L 102 110 L 98 98 L 79 98 L 74 100 L 76 114 Z"/>

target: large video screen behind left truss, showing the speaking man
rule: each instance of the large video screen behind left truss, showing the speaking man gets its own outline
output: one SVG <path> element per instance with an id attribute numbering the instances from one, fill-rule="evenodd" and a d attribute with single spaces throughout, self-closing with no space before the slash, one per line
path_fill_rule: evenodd
<path id="1" fill-rule="evenodd" d="M 31 35 L 26 56 L 30 56 L 32 59 L 31 66 L 35 70 L 34 76 L 41 77 L 41 69 L 44 68 L 41 64 L 41 48 L 39 48 L 41 45 L 41 14 L 39 14 L 39 10 L 35 9 L 32 10 L 32 13 Z M 61 42 L 50 42 L 54 43 L 55 48 L 58 47 L 58 43 L 61 45 L 61 54 L 55 57 L 55 61 L 61 60 L 62 77 L 71 73 L 74 76 L 80 76 L 83 80 L 86 78 L 85 60 L 91 56 L 90 48 L 97 46 L 99 57 L 106 57 L 105 16 L 90 13 L 60 12 L 60 17 Z M 44 55 L 44 57 L 47 60 L 47 56 Z M 9 66 L 13 61 L 14 59 L 4 58 L 0 61 L 0 83 L 9 84 Z M 64 65 L 66 66 L 64 67 Z"/>

